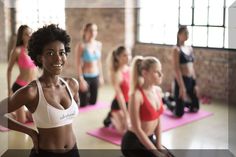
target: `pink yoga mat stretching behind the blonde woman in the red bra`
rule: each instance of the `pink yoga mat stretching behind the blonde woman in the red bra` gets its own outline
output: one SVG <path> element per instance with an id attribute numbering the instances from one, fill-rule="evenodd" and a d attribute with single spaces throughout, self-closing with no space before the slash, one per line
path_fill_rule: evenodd
<path id="1" fill-rule="evenodd" d="M 169 111 L 165 111 L 161 117 L 161 128 L 162 131 L 167 131 L 211 115 L 213 115 L 213 113 L 200 110 L 198 113 L 185 113 L 182 118 L 175 118 Z M 87 134 L 118 146 L 121 144 L 122 135 L 117 133 L 112 127 L 98 128 L 87 132 Z"/>

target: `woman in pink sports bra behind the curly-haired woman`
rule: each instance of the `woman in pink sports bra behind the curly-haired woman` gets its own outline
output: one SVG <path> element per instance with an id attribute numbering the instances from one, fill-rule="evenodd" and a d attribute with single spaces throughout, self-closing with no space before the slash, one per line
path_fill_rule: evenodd
<path id="1" fill-rule="evenodd" d="M 27 25 L 21 25 L 17 32 L 16 47 L 12 50 L 7 68 L 8 96 L 15 93 L 21 87 L 26 86 L 37 77 L 37 68 L 31 58 L 28 56 L 27 46 L 32 30 Z M 12 84 L 12 68 L 17 63 L 19 75 Z M 19 108 L 14 115 L 15 119 L 21 123 L 32 121 L 31 114 L 24 107 Z"/>

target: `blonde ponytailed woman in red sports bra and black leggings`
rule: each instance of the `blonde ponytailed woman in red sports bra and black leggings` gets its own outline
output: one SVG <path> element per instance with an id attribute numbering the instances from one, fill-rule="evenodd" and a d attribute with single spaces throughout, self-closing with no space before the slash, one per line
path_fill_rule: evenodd
<path id="1" fill-rule="evenodd" d="M 136 56 L 131 70 L 131 127 L 123 136 L 122 152 L 125 157 L 168 156 L 161 145 L 161 63 L 154 57 Z"/>

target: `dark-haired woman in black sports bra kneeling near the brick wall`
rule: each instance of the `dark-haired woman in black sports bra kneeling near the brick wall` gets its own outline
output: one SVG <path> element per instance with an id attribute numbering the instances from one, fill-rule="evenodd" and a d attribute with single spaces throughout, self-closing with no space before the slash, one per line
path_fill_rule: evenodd
<path id="1" fill-rule="evenodd" d="M 198 112 L 199 110 L 199 92 L 193 65 L 193 49 L 191 46 L 185 45 L 186 40 L 188 40 L 187 27 L 181 26 L 177 34 L 177 46 L 173 48 L 176 105 L 167 105 L 177 117 L 183 116 L 184 107 L 188 107 L 190 112 Z"/>

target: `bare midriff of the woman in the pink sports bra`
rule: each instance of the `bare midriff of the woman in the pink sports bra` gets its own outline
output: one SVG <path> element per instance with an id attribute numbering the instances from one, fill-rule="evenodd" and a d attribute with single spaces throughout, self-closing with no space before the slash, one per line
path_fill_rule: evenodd
<path id="1" fill-rule="evenodd" d="M 29 83 L 37 78 L 37 68 L 19 69 L 19 70 L 20 70 L 20 74 L 17 77 L 17 79 L 19 80 Z"/>

